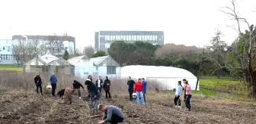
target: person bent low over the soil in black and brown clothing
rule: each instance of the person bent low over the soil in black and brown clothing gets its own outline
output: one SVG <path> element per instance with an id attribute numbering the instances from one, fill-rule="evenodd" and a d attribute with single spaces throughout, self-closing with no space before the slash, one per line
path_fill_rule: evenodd
<path id="1" fill-rule="evenodd" d="M 72 89 L 71 88 L 62 88 L 59 91 L 56 91 L 56 97 L 61 98 L 63 96 L 64 104 L 72 104 Z"/>

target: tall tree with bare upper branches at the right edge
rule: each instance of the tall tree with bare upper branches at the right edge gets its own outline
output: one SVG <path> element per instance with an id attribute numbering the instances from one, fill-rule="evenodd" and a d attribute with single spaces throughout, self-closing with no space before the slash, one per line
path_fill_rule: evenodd
<path id="1" fill-rule="evenodd" d="M 244 17 L 238 16 L 238 11 L 235 8 L 235 0 L 231 1 L 231 7 L 222 7 L 222 12 L 230 17 L 231 20 L 235 20 L 237 27 L 234 26 L 232 29 L 238 33 L 238 38 L 235 40 L 232 46 L 229 47 L 229 52 L 235 54 L 239 63 L 236 65 L 229 66 L 232 70 L 236 72 L 242 71 L 242 77 L 244 79 L 245 85 L 248 88 L 248 95 L 256 97 L 256 47 L 255 47 L 255 37 L 256 37 L 256 26 L 251 25 Z M 248 27 L 248 31 L 242 33 L 241 23 L 245 23 Z M 242 52 L 241 52 L 242 51 Z M 232 60 L 230 60 L 232 61 Z M 237 66 L 237 67 L 235 67 Z"/>

